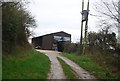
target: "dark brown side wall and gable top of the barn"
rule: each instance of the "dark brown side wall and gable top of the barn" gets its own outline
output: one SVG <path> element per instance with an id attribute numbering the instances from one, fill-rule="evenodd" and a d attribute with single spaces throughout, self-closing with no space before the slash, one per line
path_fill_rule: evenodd
<path id="1" fill-rule="evenodd" d="M 70 34 L 67 34 L 65 32 L 56 32 L 56 33 L 47 34 L 47 35 L 33 38 L 32 44 L 34 45 L 34 47 L 40 46 L 42 49 L 51 50 L 53 49 L 54 36 L 70 37 L 70 41 L 71 41 Z"/>

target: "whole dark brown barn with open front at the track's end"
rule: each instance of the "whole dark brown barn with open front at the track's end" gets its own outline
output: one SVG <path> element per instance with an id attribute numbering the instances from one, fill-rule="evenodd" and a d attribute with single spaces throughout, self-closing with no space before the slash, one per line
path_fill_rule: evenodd
<path id="1" fill-rule="evenodd" d="M 34 48 L 63 51 L 63 43 L 71 42 L 71 34 L 64 31 L 32 38 Z"/>

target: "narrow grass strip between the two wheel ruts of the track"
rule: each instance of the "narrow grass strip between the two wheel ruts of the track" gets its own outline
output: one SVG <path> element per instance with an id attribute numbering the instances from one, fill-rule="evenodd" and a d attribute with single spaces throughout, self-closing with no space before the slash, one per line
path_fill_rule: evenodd
<path id="1" fill-rule="evenodd" d="M 58 58 L 58 61 L 60 62 L 60 64 L 62 65 L 63 71 L 67 77 L 67 79 L 77 79 L 77 77 L 74 75 L 71 67 L 69 65 L 67 65 L 62 59 Z"/>

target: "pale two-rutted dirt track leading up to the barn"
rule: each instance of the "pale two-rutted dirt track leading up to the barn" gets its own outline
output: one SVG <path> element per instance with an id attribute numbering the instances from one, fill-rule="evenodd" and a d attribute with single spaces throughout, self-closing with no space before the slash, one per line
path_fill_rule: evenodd
<path id="1" fill-rule="evenodd" d="M 77 65 L 73 61 L 60 55 L 59 52 L 57 51 L 49 51 L 49 50 L 37 50 L 37 51 L 40 51 L 45 55 L 47 55 L 51 61 L 51 72 L 48 74 L 48 79 L 66 79 L 62 66 L 57 60 L 57 57 L 64 60 L 76 73 L 79 79 L 96 79 L 93 75 L 82 69 L 79 65 Z"/>

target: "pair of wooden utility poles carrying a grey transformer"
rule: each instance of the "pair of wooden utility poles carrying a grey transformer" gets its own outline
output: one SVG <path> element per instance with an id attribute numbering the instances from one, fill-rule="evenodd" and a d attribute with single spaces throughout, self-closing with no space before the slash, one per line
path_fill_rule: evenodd
<path id="1" fill-rule="evenodd" d="M 81 21 L 81 39 L 80 39 L 80 48 L 82 50 L 82 53 L 85 54 L 85 48 L 87 43 L 87 30 L 88 30 L 88 15 L 89 15 L 89 0 L 87 4 L 87 10 L 84 10 L 84 0 L 82 0 L 82 21 Z M 85 37 L 83 41 L 83 22 L 85 23 Z M 83 42 L 83 43 L 82 43 Z"/>

